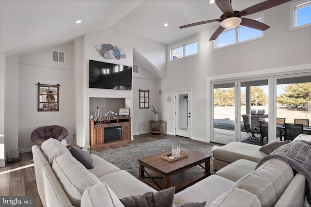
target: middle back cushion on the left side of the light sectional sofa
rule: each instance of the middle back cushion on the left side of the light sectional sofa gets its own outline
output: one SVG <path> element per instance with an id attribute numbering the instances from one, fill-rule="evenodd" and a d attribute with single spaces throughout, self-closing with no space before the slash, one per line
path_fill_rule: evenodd
<path id="1" fill-rule="evenodd" d="M 80 206 L 81 196 L 87 187 L 101 183 L 83 164 L 68 154 L 56 158 L 53 161 L 52 169 L 75 207 Z"/>

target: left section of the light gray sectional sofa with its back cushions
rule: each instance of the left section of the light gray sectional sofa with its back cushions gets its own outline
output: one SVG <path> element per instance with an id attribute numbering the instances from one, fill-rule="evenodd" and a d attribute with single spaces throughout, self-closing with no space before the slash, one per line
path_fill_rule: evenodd
<path id="1" fill-rule="evenodd" d="M 37 189 L 44 207 L 96 206 L 90 204 L 94 196 L 101 196 L 100 206 L 123 206 L 120 198 L 156 192 L 96 155 L 90 155 L 94 168 L 86 169 L 65 145 L 53 138 L 42 143 L 41 148 L 32 146 L 32 152 Z M 107 194 L 109 197 L 103 203 Z"/>

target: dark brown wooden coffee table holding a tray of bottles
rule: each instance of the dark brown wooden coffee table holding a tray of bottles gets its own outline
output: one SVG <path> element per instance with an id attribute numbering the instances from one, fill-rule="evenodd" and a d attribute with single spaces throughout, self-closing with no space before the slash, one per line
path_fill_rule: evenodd
<path id="1" fill-rule="evenodd" d="M 169 153 L 163 152 L 138 159 L 138 179 L 158 191 L 175 186 L 176 193 L 210 175 L 211 156 L 185 148 L 180 148 L 180 151 L 188 153 L 188 157 L 171 162 L 161 159 L 161 155 Z M 205 168 L 202 163 L 205 163 Z M 197 165 L 201 167 L 196 167 Z"/>

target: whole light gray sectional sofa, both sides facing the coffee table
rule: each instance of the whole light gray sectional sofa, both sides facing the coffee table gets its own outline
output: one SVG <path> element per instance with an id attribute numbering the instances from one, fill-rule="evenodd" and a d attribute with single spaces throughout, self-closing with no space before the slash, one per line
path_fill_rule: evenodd
<path id="1" fill-rule="evenodd" d="M 237 143 L 230 143 L 216 150 L 217 159 L 227 163 L 225 167 L 176 193 L 174 205 L 206 201 L 206 207 L 308 206 L 304 175 L 293 171 L 281 159 L 268 159 L 257 166 L 260 159 L 254 160 L 249 153 L 243 155 L 244 151 L 258 153 L 252 144 L 242 143 L 243 150 L 235 151 L 236 155 L 232 156 L 230 145 L 238 148 Z M 41 149 L 33 146 L 32 150 L 37 189 L 44 207 L 123 206 L 121 198 L 157 192 L 96 155 L 90 155 L 94 168 L 86 169 L 64 145 L 53 139 L 44 142 Z M 264 157 L 262 153 L 259 156 Z"/>

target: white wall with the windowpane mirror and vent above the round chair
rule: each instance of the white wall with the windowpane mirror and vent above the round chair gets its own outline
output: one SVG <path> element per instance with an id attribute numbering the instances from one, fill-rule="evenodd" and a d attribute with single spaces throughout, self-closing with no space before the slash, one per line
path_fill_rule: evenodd
<path id="1" fill-rule="evenodd" d="M 52 50 L 65 52 L 65 64 L 52 62 Z M 74 69 L 73 43 L 19 57 L 18 65 L 18 149 L 31 151 L 31 133 L 37 127 L 60 125 L 69 131 L 73 141 Z M 60 84 L 59 111 L 37 111 L 36 83 Z M 7 90 L 8 93 L 9 90 Z"/>

